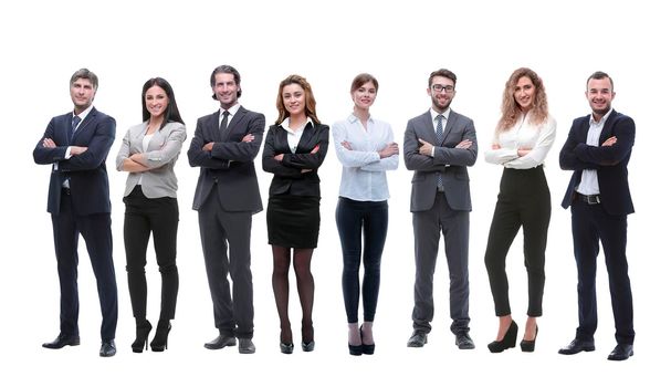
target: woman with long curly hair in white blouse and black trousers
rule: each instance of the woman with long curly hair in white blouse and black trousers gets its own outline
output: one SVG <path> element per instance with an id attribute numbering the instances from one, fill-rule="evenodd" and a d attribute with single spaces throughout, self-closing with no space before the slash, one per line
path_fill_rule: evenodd
<path id="1" fill-rule="evenodd" d="M 499 333 L 489 344 L 492 353 L 515 346 L 517 324 L 511 315 L 505 257 L 520 230 L 524 230 L 524 264 L 528 276 L 528 308 L 523 352 L 533 352 L 543 313 L 545 245 L 551 217 L 549 189 L 543 161 L 555 140 L 556 122 L 547 112 L 541 77 L 530 69 L 517 69 L 505 84 L 502 115 L 485 160 L 503 165 L 499 200 L 484 262 L 494 297 Z"/>

